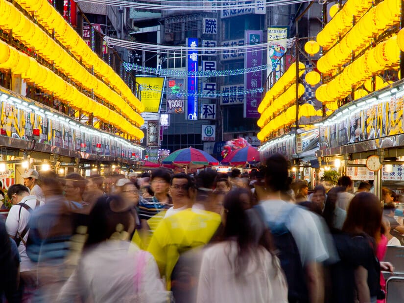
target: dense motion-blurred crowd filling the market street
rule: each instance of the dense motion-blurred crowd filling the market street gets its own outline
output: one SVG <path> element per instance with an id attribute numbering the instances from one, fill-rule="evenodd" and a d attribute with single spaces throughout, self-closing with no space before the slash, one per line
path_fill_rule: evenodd
<path id="1" fill-rule="evenodd" d="M 28 170 L 0 221 L 8 302 L 384 302 L 395 207 L 343 176 L 326 193 L 260 169 L 139 176 Z M 384 192 L 383 192 L 384 194 Z M 386 193 L 391 194 L 391 193 Z M 384 197 L 383 197 L 384 199 Z"/>

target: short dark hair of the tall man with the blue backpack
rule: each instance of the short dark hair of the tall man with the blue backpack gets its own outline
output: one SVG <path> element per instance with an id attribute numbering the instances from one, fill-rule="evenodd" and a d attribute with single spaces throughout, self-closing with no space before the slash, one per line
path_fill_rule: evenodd
<path id="1" fill-rule="evenodd" d="M 287 191 L 288 186 L 288 162 L 281 154 L 273 154 L 266 160 L 265 183 L 269 190 Z"/>

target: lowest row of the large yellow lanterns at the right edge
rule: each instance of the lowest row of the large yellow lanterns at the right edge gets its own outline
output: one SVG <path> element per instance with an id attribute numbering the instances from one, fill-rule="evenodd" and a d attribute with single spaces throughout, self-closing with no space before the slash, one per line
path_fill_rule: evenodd
<path id="1" fill-rule="evenodd" d="M 404 38 L 403 30 L 399 33 Z M 397 35 L 392 36 L 369 49 L 353 63 L 347 66 L 340 74 L 327 84 L 316 90 L 316 98 L 321 102 L 330 102 L 346 97 L 352 89 L 357 88 L 372 75 L 389 69 L 400 62 L 400 48 Z"/>

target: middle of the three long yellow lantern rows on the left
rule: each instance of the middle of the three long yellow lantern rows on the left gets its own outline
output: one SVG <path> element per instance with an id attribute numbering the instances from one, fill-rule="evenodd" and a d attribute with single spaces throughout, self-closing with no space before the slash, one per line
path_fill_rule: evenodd
<path id="1" fill-rule="evenodd" d="M 118 93 L 115 93 L 89 73 L 38 25 L 31 22 L 16 7 L 5 0 L 0 0 L 0 28 L 12 30 L 14 37 L 24 45 L 34 48 L 41 57 L 54 62 L 55 68 L 64 72 L 76 84 L 81 85 L 88 91 L 93 90 L 97 97 L 114 105 L 135 124 L 139 126 L 143 124 L 143 118 Z"/>

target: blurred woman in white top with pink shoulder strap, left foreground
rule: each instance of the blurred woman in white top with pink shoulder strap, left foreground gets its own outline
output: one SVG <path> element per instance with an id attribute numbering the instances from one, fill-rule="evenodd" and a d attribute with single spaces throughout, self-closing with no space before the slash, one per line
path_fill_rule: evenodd
<path id="1" fill-rule="evenodd" d="M 134 184 L 130 184 L 135 186 Z M 135 229 L 131 203 L 101 197 L 90 213 L 86 248 L 57 302 L 165 303 L 165 291 L 153 257 L 128 242 Z"/>

